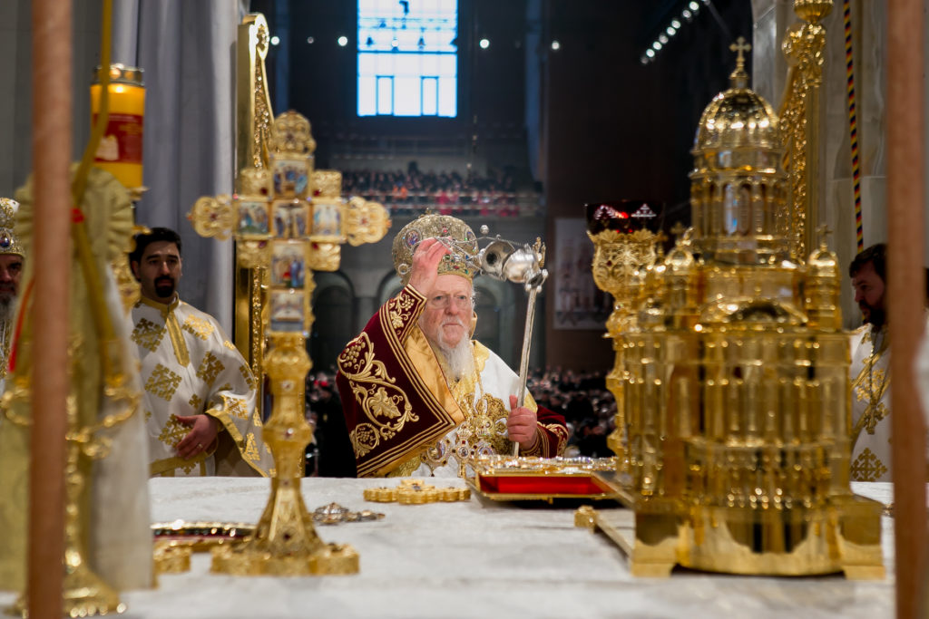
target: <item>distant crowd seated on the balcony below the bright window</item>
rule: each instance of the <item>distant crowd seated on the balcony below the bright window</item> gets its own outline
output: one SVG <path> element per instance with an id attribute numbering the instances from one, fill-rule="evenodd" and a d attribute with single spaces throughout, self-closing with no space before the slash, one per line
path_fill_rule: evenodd
<path id="1" fill-rule="evenodd" d="M 392 214 L 413 215 L 426 210 L 455 216 L 516 217 L 534 214 L 538 198 L 518 200 L 513 176 L 491 170 L 486 176 L 470 172 L 420 172 L 412 162 L 407 172 L 348 170 L 342 174 L 342 193 L 384 204 Z"/>

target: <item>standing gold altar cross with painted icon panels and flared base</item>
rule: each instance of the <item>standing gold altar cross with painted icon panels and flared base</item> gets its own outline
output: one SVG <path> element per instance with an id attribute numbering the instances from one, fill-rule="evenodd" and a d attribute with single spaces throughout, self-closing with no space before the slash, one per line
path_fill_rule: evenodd
<path id="1" fill-rule="evenodd" d="M 262 367 L 274 406 L 262 436 L 274 455 L 268 506 L 255 535 L 214 553 L 213 571 L 228 574 L 352 574 L 358 555 L 326 545 L 300 495 L 304 450 L 312 431 L 304 419 L 304 381 L 312 367 L 306 335 L 313 322 L 314 270 L 334 271 L 340 246 L 384 238 L 390 219 L 376 202 L 341 196 L 342 174 L 313 170 L 316 142 L 309 122 L 288 111 L 271 124 L 267 168 L 246 168 L 235 196 L 197 200 L 188 215 L 203 237 L 236 241 L 239 266 L 265 270 L 268 295 L 252 328 L 268 334 Z M 258 323 L 258 324 L 255 324 Z M 253 333 L 254 335 L 254 333 Z"/>

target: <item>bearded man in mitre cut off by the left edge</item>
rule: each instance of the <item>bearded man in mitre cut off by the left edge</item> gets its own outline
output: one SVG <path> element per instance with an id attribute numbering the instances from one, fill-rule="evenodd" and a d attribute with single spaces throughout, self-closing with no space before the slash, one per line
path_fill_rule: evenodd
<path id="1" fill-rule="evenodd" d="M 0 198 L 0 394 L 4 393 L 13 342 L 13 315 L 20 292 L 22 245 L 14 230 L 20 203 Z"/>

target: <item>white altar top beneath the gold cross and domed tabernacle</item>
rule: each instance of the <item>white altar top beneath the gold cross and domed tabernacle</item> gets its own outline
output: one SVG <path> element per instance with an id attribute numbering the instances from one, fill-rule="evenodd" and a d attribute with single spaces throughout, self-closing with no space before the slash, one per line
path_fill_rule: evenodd
<path id="1" fill-rule="evenodd" d="M 441 484 L 463 484 L 440 480 Z M 209 572 L 195 554 L 190 573 L 163 574 L 157 589 L 125 591 L 126 618 L 203 617 L 892 617 L 893 519 L 883 518 L 887 577 L 729 576 L 675 571 L 635 578 L 605 535 L 574 526 L 574 509 L 484 503 L 368 503 L 362 490 L 397 480 L 307 478 L 307 509 L 338 502 L 386 514 L 380 521 L 318 525 L 325 542 L 350 544 L 360 574 L 244 577 Z M 152 522 L 256 522 L 267 479 L 160 478 L 149 483 Z M 853 484 L 890 502 L 891 484 Z M 603 503 L 607 507 L 608 503 Z M 13 594 L 0 593 L 7 606 Z"/>

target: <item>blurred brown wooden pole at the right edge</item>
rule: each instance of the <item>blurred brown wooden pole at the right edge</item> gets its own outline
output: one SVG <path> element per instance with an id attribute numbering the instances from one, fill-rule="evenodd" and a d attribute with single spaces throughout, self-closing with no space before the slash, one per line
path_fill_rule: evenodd
<path id="1" fill-rule="evenodd" d="M 896 616 L 915 617 L 924 592 L 925 421 L 913 362 L 925 324 L 922 0 L 887 3 L 887 320 L 896 547 Z"/>

